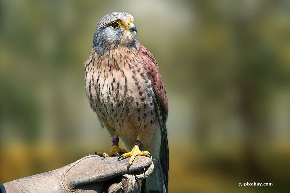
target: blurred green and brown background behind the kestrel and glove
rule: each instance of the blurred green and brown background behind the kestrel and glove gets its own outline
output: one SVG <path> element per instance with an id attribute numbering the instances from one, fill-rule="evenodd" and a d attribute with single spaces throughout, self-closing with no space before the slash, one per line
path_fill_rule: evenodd
<path id="1" fill-rule="evenodd" d="M 0 183 L 109 150 L 83 64 L 125 11 L 166 86 L 170 192 L 289 191 L 289 1 L 0 2 Z"/>

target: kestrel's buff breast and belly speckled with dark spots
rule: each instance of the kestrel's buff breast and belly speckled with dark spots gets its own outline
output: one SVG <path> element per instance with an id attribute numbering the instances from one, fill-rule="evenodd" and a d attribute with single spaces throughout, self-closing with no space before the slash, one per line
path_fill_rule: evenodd
<path id="1" fill-rule="evenodd" d="M 99 56 L 93 51 L 85 63 L 85 73 L 90 106 L 111 135 L 115 131 L 122 135 L 129 130 L 154 129 L 153 90 L 143 61 L 118 56 L 117 52 Z M 134 133 L 132 137 L 135 139 Z"/>

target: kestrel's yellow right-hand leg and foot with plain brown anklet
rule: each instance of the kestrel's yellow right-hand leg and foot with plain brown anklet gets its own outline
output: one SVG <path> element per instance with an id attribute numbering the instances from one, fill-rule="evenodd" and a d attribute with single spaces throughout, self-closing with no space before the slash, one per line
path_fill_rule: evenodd
<path id="1" fill-rule="evenodd" d="M 140 149 L 142 151 L 140 151 Z M 121 155 L 118 158 L 118 160 L 120 158 L 122 158 L 122 157 L 130 157 L 131 156 L 131 158 L 130 158 L 130 160 L 128 162 L 128 166 L 127 166 L 128 170 L 129 170 L 129 167 L 132 165 L 132 162 L 134 161 L 134 159 L 135 159 L 135 157 L 137 155 L 148 155 L 148 156 L 151 157 L 151 154 L 148 151 L 143 151 L 143 148 L 141 146 L 140 134 L 139 133 L 137 134 L 137 139 L 135 140 L 135 144 L 134 144 L 134 147 L 133 147 L 132 151 L 128 152 L 128 153 L 124 153 L 123 155 Z"/>

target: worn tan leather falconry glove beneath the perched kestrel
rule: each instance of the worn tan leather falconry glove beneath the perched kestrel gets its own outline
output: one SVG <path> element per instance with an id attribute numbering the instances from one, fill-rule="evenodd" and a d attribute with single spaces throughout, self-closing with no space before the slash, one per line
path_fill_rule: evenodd
<path id="1" fill-rule="evenodd" d="M 139 192 L 137 179 L 153 171 L 152 159 L 137 156 L 127 170 L 128 159 L 89 155 L 62 168 L 13 180 L 2 192 Z M 0 185 L 0 187 L 1 187 Z"/>

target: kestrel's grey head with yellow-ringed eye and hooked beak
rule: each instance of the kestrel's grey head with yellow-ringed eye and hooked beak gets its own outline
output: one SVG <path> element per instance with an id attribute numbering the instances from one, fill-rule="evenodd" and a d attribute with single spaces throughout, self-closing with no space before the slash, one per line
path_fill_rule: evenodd
<path id="1" fill-rule="evenodd" d="M 96 27 L 94 46 L 132 45 L 137 34 L 133 22 L 133 16 L 125 12 L 113 12 L 105 15 Z"/>

